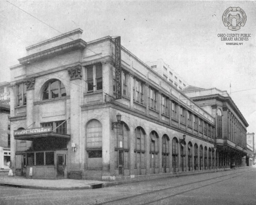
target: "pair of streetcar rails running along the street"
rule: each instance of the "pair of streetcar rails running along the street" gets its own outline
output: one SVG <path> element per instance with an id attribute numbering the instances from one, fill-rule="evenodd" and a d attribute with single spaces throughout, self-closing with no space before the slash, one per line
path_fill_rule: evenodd
<path id="1" fill-rule="evenodd" d="M 165 190 L 168 190 L 168 189 L 178 188 L 178 187 L 187 186 L 187 185 L 191 185 L 191 184 L 196 184 L 196 183 L 200 183 L 200 182 L 206 182 L 206 181 L 209 181 L 209 180 L 213 180 L 213 179 L 217 179 L 217 178 L 222 178 L 222 177 L 226 177 L 226 176 L 229 176 L 229 175 L 236 175 L 236 174 L 239 174 L 239 173 L 243 173 L 243 174 L 241 174 L 241 175 L 244 175 L 244 174 L 250 173 L 250 172 L 253 172 L 253 170 L 252 170 L 252 171 L 249 171 L 249 172 L 243 172 L 243 171 L 242 171 L 242 172 L 237 172 L 237 173 L 233 173 L 233 174 L 222 175 L 222 176 L 214 177 L 214 178 L 210 178 L 210 179 L 200 180 L 200 181 L 196 181 L 196 182 L 190 182 L 190 183 L 187 183 L 187 184 L 182 184 L 182 185 L 167 187 L 167 188 L 164 188 L 164 189 L 158 189 L 158 190 L 154 190 L 154 191 L 150 191 L 150 192 L 140 193 L 140 194 L 133 195 L 133 196 L 127 196 L 127 197 L 123 197 L 123 198 L 119 198 L 119 199 L 114 199 L 114 200 L 110 200 L 110 201 L 106 201 L 106 202 L 101 202 L 101 203 L 97 203 L 97 204 L 95 204 L 95 205 L 109 204 L 109 203 L 113 203 L 113 202 L 117 202 L 117 201 L 122 201 L 122 200 L 126 200 L 126 199 L 136 198 L 136 197 L 143 196 L 143 195 L 147 195 L 147 194 L 152 194 L 152 193 L 157 193 L 157 192 L 165 191 Z M 231 178 L 234 178 L 234 177 L 239 177 L 239 176 L 241 176 L 241 175 L 232 176 L 232 177 L 227 178 L 227 179 L 224 179 L 224 180 L 222 180 L 222 181 L 225 181 L 225 180 L 228 180 L 228 179 L 231 179 Z M 211 184 L 216 184 L 216 183 L 219 183 L 219 182 L 222 182 L 222 181 L 214 182 L 214 183 L 211 183 Z M 189 192 L 189 191 L 193 191 L 193 190 L 196 190 L 196 189 L 199 189 L 199 188 L 202 188 L 202 187 L 209 186 L 209 185 L 211 185 L 211 184 L 204 185 L 204 186 L 201 186 L 201 187 L 198 187 L 198 188 L 195 188 L 195 189 L 190 189 L 190 190 L 187 190 L 187 191 L 184 191 L 184 192 L 179 192 L 179 193 L 177 193 L 177 194 L 174 194 L 174 195 L 171 195 L 171 196 L 168 196 L 168 197 L 164 197 L 164 198 L 161 198 L 161 199 L 152 201 L 152 202 L 147 202 L 147 203 L 144 203 L 144 204 L 149 204 L 149 203 L 154 203 L 154 202 L 157 202 L 157 201 L 161 201 L 161 200 L 164 200 L 164 199 L 167 199 L 167 198 L 170 198 L 170 197 L 179 195 L 179 194 L 183 194 L 183 193 L 186 193 L 186 192 Z"/>

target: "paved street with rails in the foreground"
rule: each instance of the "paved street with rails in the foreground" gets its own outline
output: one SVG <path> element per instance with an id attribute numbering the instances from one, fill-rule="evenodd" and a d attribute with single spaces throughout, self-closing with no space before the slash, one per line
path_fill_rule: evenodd
<path id="1" fill-rule="evenodd" d="M 90 190 L 0 186 L 0 204 L 256 204 L 256 167 Z"/>

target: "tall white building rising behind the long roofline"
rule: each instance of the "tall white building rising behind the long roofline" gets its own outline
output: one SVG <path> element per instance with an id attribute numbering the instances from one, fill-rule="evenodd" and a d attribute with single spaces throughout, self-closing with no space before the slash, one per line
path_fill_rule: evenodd
<path id="1" fill-rule="evenodd" d="M 163 76 L 165 80 L 170 82 L 177 89 L 182 90 L 188 86 L 187 82 L 182 79 L 182 77 L 178 75 L 173 68 L 166 64 L 163 59 L 158 59 L 154 62 L 146 62 L 146 64 L 159 75 Z"/>

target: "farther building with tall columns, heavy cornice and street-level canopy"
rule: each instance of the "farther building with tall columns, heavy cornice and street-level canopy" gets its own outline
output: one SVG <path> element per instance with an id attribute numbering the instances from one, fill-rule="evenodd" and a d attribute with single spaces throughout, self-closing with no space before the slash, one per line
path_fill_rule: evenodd
<path id="1" fill-rule="evenodd" d="M 248 123 L 226 91 L 188 86 L 182 91 L 215 118 L 219 166 L 245 166 Z"/>

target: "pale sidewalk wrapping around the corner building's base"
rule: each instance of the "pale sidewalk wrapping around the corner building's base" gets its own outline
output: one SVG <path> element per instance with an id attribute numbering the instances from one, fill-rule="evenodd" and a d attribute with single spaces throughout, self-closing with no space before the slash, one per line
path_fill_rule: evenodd
<path id="1" fill-rule="evenodd" d="M 241 172 L 241 169 L 247 169 L 250 167 L 240 167 L 237 169 L 227 169 L 226 172 Z M 239 170 L 240 169 L 240 170 Z M 225 173 L 223 170 L 218 170 L 218 173 Z M 198 172 L 198 173 L 180 173 L 173 174 L 169 177 L 164 178 L 175 178 L 189 175 L 199 175 L 200 174 L 211 174 L 216 172 Z M 135 182 L 135 181 L 134 181 Z M 120 184 L 128 184 L 133 182 L 127 181 L 119 181 L 119 182 L 104 182 L 104 181 L 96 181 L 96 180 L 73 180 L 73 179 L 60 179 L 60 180 L 41 180 L 41 179 L 26 179 L 24 177 L 8 177 L 8 172 L 4 175 L 0 175 L 0 186 L 13 186 L 19 188 L 30 188 L 30 189 L 47 189 L 47 190 L 74 190 L 74 189 L 95 189 L 101 187 L 108 187 Z"/>

